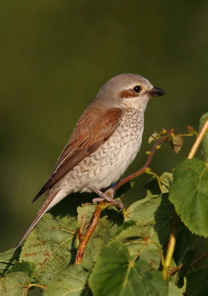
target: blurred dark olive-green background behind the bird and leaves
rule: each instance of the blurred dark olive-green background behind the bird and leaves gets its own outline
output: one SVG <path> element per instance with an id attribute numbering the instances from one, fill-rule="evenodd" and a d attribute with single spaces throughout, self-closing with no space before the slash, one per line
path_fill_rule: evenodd
<path id="1" fill-rule="evenodd" d="M 140 74 L 167 92 L 148 105 L 149 132 L 198 128 L 208 111 L 208 1 L 0 1 L 1 252 L 35 217 L 43 197 L 31 200 L 80 114 L 121 73 Z M 164 145 L 152 169 L 171 171 L 193 141 L 185 139 L 178 155 Z M 144 135 L 126 175 L 143 165 L 149 148 Z M 136 180 L 125 205 L 144 196 L 148 179 Z"/>

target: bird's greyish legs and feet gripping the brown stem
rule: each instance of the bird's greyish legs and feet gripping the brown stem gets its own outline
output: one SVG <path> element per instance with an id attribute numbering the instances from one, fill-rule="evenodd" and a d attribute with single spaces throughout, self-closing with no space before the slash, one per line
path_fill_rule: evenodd
<path id="1" fill-rule="evenodd" d="M 113 188 L 108 188 L 104 192 L 101 190 L 97 189 L 96 187 L 88 187 L 90 190 L 93 192 L 97 193 L 100 195 L 100 197 L 94 198 L 93 203 L 100 202 L 102 200 L 106 200 L 107 202 L 113 202 L 115 206 L 119 205 L 121 207 L 121 210 L 124 208 L 124 204 L 117 199 L 114 198 L 115 196 L 115 190 Z"/>

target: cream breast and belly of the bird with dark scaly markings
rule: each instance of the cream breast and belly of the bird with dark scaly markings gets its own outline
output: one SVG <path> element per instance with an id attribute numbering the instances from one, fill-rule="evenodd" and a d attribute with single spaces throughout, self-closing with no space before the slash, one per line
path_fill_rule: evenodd
<path id="1" fill-rule="evenodd" d="M 83 183 L 105 188 L 118 181 L 136 157 L 142 133 L 143 118 L 136 112 L 124 114 L 114 135 L 80 163 Z"/>

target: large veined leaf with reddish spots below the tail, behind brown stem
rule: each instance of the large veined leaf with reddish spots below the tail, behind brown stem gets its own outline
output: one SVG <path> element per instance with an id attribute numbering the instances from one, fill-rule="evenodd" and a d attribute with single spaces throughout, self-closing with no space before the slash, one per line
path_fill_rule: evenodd
<path id="1" fill-rule="evenodd" d="M 77 219 L 66 224 L 45 214 L 31 232 L 22 249 L 21 260 L 35 263 L 35 282 L 47 286 L 53 276 L 73 263 L 79 244 L 75 235 Z M 83 265 L 90 269 L 102 247 L 104 230 L 96 227 L 86 247 Z"/>

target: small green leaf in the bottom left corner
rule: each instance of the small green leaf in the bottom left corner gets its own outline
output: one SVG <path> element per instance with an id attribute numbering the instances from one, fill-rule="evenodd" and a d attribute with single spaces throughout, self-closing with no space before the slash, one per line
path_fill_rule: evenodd
<path id="1" fill-rule="evenodd" d="M 0 279 L 1 296 L 26 296 L 30 278 L 23 272 L 13 272 Z"/>

